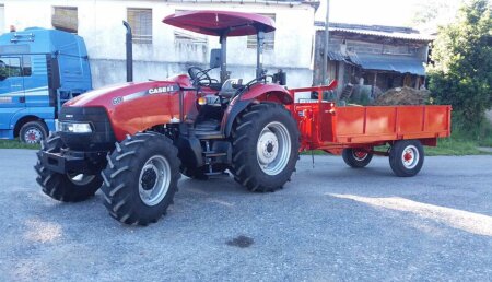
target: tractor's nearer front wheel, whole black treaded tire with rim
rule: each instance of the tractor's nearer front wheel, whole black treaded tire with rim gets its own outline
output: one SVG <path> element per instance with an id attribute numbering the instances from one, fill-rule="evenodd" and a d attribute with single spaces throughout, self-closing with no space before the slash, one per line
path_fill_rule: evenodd
<path id="1" fill-rule="evenodd" d="M 102 172 L 104 204 L 126 224 L 156 222 L 173 203 L 179 158 L 171 139 L 155 132 L 137 133 L 116 143 Z"/>

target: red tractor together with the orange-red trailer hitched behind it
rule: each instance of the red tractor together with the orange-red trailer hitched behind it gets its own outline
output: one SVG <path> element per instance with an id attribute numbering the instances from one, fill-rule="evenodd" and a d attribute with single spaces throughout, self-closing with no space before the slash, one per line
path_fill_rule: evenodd
<path id="1" fill-rule="evenodd" d="M 298 152 L 342 154 L 354 168 L 374 154 L 396 175 L 423 165 L 423 145 L 450 134 L 450 106 L 336 107 L 328 86 L 286 90 L 285 73 L 262 68 L 269 17 L 221 11 L 173 14 L 164 22 L 220 37 L 210 69 L 191 67 L 167 81 L 127 83 L 67 102 L 59 131 L 38 152 L 37 181 L 51 198 L 74 202 L 102 189 L 109 214 L 127 224 L 157 221 L 173 202 L 180 174 L 204 179 L 226 169 L 251 191 L 274 191 L 290 179 Z M 230 79 L 230 36 L 257 35 L 256 79 Z M 220 80 L 209 71 L 220 67 Z M 294 103 L 298 92 L 317 101 Z M 378 152 L 380 145 L 389 150 Z"/>

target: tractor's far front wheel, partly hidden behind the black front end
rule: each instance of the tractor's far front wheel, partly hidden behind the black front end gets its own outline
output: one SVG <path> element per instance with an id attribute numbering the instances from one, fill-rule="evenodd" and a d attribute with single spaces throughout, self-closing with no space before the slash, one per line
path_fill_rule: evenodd
<path id="1" fill-rule="evenodd" d="M 60 152 L 61 139 L 58 134 L 42 141 L 42 150 L 37 153 L 38 162 L 34 166 L 37 172 L 36 181 L 43 187 L 43 192 L 62 202 L 79 202 L 94 196 L 103 179 L 99 175 L 59 174 L 46 168 L 40 158 L 40 152 Z"/>

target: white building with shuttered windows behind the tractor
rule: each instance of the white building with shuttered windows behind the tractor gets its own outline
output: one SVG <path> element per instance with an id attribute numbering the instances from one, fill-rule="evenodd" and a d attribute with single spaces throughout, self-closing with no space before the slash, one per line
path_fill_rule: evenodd
<path id="1" fill-rule="evenodd" d="M 0 28 L 30 26 L 75 32 L 85 39 L 92 64 L 93 86 L 124 82 L 125 33 L 122 21 L 133 30 L 134 80 L 164 79 L 206 67 L 219 38 L 168 26 L 162 20 L 176 11 L 230 10 L 274 17 L 277 31 L 267 36 L 265 67 L 281 68 L 288 85 L 308 86 L 313 81 L 314 15 L 317 2 L 306 1 L 175 1 L 175 0 L 0 0 Z M 256 39 L 227 40 L 231 78 L 255 77 Z M 218 72 L 212 75 L 219 77 Z"/>

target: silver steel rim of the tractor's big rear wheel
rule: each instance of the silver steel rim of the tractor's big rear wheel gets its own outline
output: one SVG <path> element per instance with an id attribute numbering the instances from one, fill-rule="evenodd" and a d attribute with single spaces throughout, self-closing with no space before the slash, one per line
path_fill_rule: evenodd
<path id="1" fill-rule="evenodd" d="M 278 121 L 268 124 L 261 130 L 256 146 L 261 171 L 267 175 L 281 173 L 289 163 L 291 148 L 291 136 L 285 126 Z"/>

